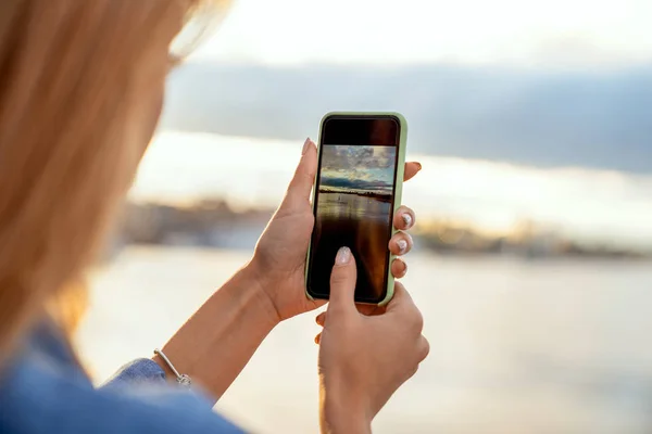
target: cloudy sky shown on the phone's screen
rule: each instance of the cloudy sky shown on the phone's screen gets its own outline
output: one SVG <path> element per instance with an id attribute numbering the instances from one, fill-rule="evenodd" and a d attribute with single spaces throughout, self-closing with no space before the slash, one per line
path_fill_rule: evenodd
<path id="1" fill-rule="evenodd" d="M 322 186 L 390 194 L 394 159 L 393 146 L 324 145 Z"/>

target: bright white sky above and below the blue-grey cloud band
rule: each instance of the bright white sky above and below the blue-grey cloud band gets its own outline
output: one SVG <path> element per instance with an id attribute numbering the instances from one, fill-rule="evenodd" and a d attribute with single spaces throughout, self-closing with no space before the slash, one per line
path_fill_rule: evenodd
<path id="1" fill-rule="evenodd" d="M 652 65 L 650 23 L 651 0 L 236 0 L 189 62 L 450 63 L 593 73 Z M 300 148 L 164 131 L 131 195 L 164 202 L 220 195 L 236 207 L 275 206 Z M 494 232 L 529 218 L 576 240 L 652 248 L 650 176 L 409 158 L 424 163 L 404 190 L 404 203 L 419 215 Z"/>

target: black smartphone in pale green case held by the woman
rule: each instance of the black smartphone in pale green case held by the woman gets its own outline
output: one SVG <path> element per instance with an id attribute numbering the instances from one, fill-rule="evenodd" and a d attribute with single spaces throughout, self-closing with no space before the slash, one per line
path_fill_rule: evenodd
<path id="1" fill-rule="evenodd" d="M 398 113 L 328 113 L 322 119 L 308 297 L 328 299 L 335 256 L 347 246 L 358 267 L 355 302 L 385 305 L 391 299 L 389 240 L 401 204 L 406 135 Z"/>

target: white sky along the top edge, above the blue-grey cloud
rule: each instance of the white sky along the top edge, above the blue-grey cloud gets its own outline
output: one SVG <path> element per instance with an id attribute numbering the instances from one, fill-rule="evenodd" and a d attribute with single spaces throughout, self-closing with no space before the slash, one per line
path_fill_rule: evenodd
<path id="1" fill-rule="evenodd" d="M 649 0 L 235 0 L 192 59 L 614 67 L 652 60 Z"/>

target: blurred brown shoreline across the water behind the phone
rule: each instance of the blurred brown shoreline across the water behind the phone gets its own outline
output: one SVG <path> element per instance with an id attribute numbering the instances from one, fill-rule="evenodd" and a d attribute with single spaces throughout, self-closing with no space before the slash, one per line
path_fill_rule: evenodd
<path id="1" fill-rule="evenodd" d="M 252 250 L 273 213 L 273 209 L 234 209 L 221 199 L 186 205 L 129 202 L 114 230 L 108 257 L 127 245 L 139 244 Z M 554 228 L 528 219 L 510 232 L 488 233 L 450 218 L 421 218 L 411 233 L 416 248 L 442 255 L 652 259 L 651 252 L 645 250 L 579 244 Z"/>

